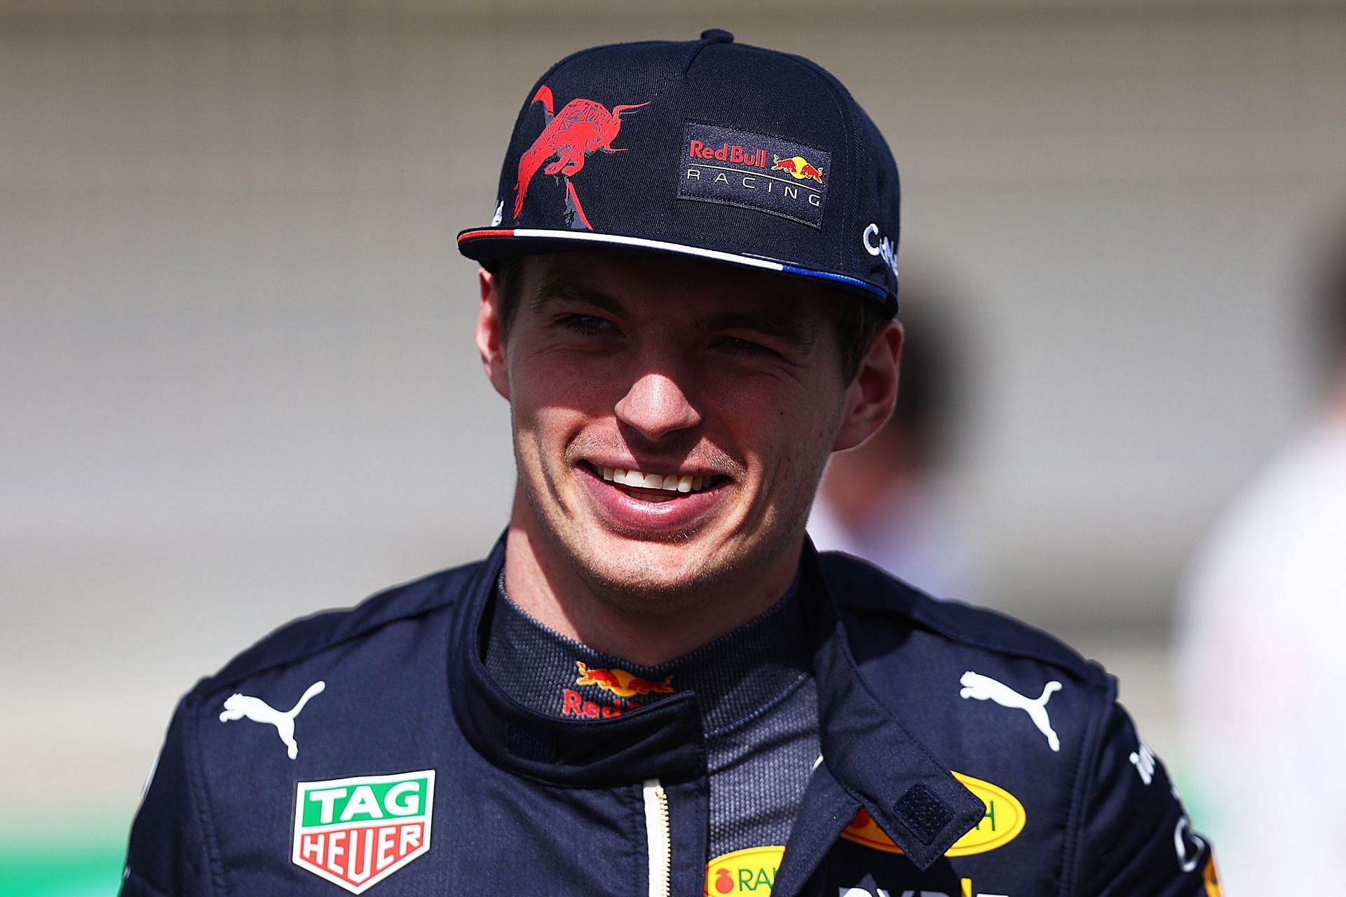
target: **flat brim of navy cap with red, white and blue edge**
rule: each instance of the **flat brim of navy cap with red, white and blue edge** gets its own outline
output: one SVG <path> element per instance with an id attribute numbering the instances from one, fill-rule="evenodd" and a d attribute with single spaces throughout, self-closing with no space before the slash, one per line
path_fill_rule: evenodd
<path id="1" fill-rule="evenodd" d="M 774 271 L 860 292 L 874 302 L 883 303 L 890 315 L 896 314 L 898 310 L 898 298 L 895 295 L 890 294 L 883 287 L 872 284 L 867 280 L 860 280 L 859 277 L 849 277 L 830 271 L 804 268 L 774 259 L 758 259 L 755 256 L 740 256 L 732 252 L 688 246 L 680 242 L 646 240 L 643 237 L 625 237 L 610 233 L 594 233 L 592 230 L 538 230 L 530 228 L 479 228 L 463 230 L 458 234 L 458 251 L 468 259 L 481 263 L 584 248 L 665 252 L 676 256 L 705 259 L 708 261 L 720 261 L 744 268 L 756 268 L 759 271 Z"/>

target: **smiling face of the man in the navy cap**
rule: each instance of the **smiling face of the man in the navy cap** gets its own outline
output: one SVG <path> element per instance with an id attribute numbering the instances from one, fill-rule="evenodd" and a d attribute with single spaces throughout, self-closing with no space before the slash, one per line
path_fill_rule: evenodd
<path id="1" fill-rule="evenodd" d="M 536 256 L 516 276 L 507 338 L 495 323 L 491 349 L 490 288 L 478 338 L 511 405 L 511 527 L 540 563 L 649 611 L 793 572 L 826 458 L 853 439 L 860 391 L 822 304 L 848 298 L 629 253 Z"/>

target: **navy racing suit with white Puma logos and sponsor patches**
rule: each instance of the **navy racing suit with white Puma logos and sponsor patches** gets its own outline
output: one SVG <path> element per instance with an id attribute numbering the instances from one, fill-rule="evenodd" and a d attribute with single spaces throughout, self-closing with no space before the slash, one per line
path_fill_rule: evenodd
<path id="1" fill-rule="evenodd" d="M 289 624 L 201 682 L 132 827 L 122 894 L 1219 893 L 1097 664 L 812 547 L 822 756 L 783 851 L 708 865 L 696 694 L 598 719 L 510 699 L 482 663 L 503 559 L 502 540 Z"/>

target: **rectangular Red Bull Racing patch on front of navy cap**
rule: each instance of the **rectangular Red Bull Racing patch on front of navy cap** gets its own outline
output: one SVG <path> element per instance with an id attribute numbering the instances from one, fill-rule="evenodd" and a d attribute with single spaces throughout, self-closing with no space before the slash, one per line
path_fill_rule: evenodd
<path id="1" fill-rule="evenodd" d="M 755 209 L 822 229 L 832 154 L 781 137 L 686 123 L 678 199 Z"/>

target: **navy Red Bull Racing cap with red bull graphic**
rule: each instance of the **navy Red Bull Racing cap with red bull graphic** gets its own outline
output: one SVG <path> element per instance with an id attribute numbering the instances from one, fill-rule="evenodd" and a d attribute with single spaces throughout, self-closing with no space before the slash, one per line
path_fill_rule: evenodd
<path id="1" fill-rule="evenodd" d="M 618 43 L 537 81 L 514 123 L 491 224 L 468 259 L 565 249 L 674 253 L 810 277 L 896 314 L 898 167 L 814 62 L 736 43 Z"/>

